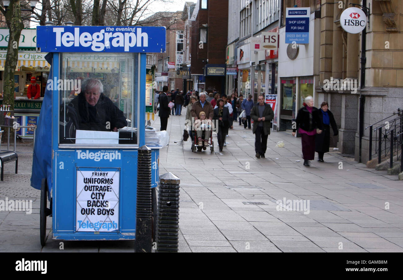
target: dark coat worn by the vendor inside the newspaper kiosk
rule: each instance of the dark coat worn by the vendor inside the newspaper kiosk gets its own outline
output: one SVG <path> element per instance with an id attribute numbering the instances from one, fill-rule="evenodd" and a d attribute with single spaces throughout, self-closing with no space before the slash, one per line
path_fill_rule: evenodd
<path id="1" fill-rule="evenodd" d="M 76 96 L 71 101 L 71 104 L 77 113 L 79 126 L 77 129 L 112 131 L 115 127 L 122 128 L 127 126 L 123 112 L 103 93 L 100 94 L 95 106 L 88 104 L 83 92 Z"/>

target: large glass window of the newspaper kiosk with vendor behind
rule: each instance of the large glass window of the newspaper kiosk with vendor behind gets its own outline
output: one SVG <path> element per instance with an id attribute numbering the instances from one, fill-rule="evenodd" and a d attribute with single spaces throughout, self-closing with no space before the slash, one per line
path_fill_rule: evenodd
<path id="1" fill-rule="evenodd" d="M 60 144 L 137 145 L 133 53 L 60 55 Z M 90 155 L 91 156 L 91 155 Z"/>

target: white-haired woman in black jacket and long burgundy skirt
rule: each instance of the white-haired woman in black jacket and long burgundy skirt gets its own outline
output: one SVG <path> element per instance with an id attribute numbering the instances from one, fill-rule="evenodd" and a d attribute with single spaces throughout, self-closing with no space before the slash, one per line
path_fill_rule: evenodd
<path id="1" fill-rule="evenodd" d="M 318 108 L 314 107 L 314 98 L 305 97 L 303 107 L 298 110 L 296 129 L 301 134 L 303 165 L 309 166 L 309 161 L 315 157 L 315 135 L 322 133 L 322 122 L 319 119 Z"/>

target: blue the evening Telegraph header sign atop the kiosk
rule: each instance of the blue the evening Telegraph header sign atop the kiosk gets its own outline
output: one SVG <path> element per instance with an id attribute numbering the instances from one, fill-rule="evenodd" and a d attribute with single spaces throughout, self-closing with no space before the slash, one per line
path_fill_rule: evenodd
<path id="1" fill-rule="evenodd" d="M 42 52 L 164 53 L 165 27 L 38 26 Z"/>

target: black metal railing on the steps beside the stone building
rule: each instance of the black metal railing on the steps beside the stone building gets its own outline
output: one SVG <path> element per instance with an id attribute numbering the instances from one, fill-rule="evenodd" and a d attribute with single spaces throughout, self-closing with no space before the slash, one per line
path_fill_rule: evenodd
<path id="1" fill-rule="evenodd" d="M 378 157 L 378 164 L 382 158 L 391 157 L 393 166 L 393 155 L 402 147 L 403 135 L 403 110 L 397 109 L 396 113 L 388 116 L 365 129 L 370 129 L 369 160 L 373 156 Z M 375 151 L 373 151 L 373 146 Z M 397 154 L 400 158 L 400 155 Z"/>

